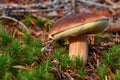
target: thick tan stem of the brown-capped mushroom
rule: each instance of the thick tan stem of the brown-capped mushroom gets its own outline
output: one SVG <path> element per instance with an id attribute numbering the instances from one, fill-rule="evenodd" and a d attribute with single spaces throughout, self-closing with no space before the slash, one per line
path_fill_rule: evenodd
<path id="1" fill-rule="evenodd" d="M 69 56 L 73 59 L 80 56 L 83 63 L 85 63 L 88 55 L 87 35 L 70 37 L 69 42 Z"/>

